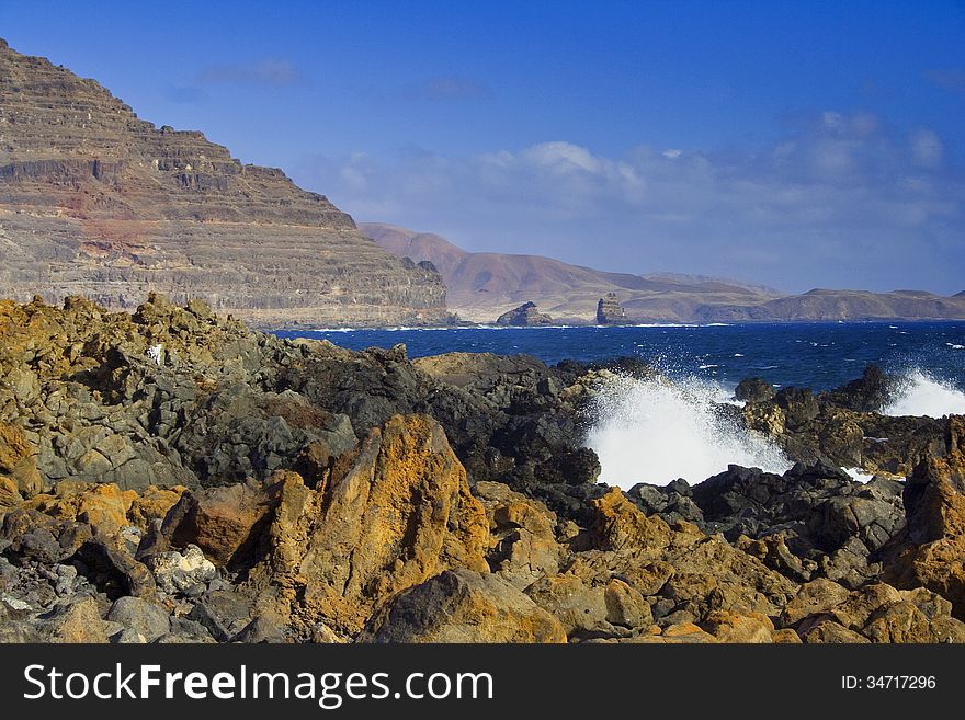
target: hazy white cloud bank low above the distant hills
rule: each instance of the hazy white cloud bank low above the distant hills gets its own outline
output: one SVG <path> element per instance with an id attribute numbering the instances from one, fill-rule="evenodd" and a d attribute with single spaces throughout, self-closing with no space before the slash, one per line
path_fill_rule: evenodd
<path id="1" fill-rule="evenodd" d="M 359 220 L 470 250 L 604 270 L 813 286 L 965 289 L 965 185 L 929 129 L 828 112 L 753 151 L 608 157 L 554 140 L 469 158 L 311 158 L 295 173 Z"/>

